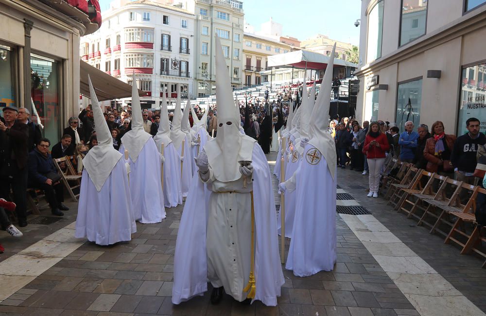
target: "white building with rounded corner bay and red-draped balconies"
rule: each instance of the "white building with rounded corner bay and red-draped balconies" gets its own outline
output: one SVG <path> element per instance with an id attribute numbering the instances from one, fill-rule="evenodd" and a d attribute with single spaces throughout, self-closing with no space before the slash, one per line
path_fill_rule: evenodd
<path id="1" fill-rule="evenodd" d="M 83 60 L 130 84 L 135 72 L 138 88 L 147 92 L 140 96 L 142 108 L 158 108 L 164 87 L 175 96 L 176 84 L 182 97 L 191 97 L 196 53 L 191 12 L 148 0 L 118 0 L 103 18 L 100 30 L 82 39 Z M 130 102 L 117 100 L 117 106 Z"/>

